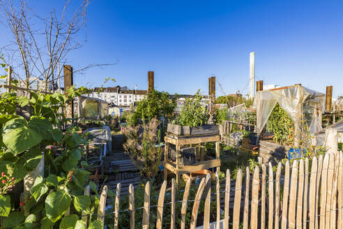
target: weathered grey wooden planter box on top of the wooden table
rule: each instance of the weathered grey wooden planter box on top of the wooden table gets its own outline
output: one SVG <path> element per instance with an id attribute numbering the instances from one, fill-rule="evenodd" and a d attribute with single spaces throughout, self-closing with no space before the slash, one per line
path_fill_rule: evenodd
<path id="1" fill-rule="evenodd" d="M 214 124 L 206 124 L 204 126 L 195 127 L 168 124 L 167 132 L 175 135 L 218 134 L 219 128 Z"/>

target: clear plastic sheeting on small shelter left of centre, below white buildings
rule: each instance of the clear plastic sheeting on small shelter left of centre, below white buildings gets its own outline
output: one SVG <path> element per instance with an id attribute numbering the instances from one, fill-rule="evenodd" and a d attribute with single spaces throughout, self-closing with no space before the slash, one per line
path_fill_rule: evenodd
<path id="1" fill-rule="evenodd" d="M 101 119 L 108 115 L 108 103 L 99 98 L 79 97 L 79 117 Z"/>

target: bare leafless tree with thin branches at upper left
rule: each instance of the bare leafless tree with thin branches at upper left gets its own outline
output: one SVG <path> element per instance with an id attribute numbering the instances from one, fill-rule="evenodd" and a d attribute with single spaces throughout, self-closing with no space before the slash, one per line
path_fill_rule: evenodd
<path id="1" fill-rule="evenodd" d="M 89 0 L 81 0 L 78 8 L 71 9 L 71 0 L 67 0 L 60 13 L 53 9 L 48 17 L 41 17 L 33 13 L 24 0 L 16 6 L 11 0 L 0 0 L 3 25 L 12 35 L 0 52 L 6 54 L 5 64 L 12 66 L 13 75 L 24 82 L 26 88 L 38 77 L 44 78 L 45 91 L 49 83 L 56 84 L 61 77 L 59 64 L 65 64 L 68 54 L 84 43 L 79 35 L 86 22 L 88 6 Z M 104 65 L 113 64 L 90 64 L 74 73 Z"/>

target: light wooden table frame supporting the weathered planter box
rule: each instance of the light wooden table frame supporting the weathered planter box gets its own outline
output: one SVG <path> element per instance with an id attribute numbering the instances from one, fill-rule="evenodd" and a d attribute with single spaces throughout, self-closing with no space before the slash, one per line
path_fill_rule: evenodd
<path id="1" fill-rule="evenodd" d="M 174 135 L 167 133 L 165 136 L 165 162 L 164 173 L 167 179 L 168 170 L 176 175 L 176 183 L 180 181 L 180 176 L 185 173 L 197 172 L 208 168 L 217 168 L 220 171 L 220 136 L 219 134 L 201 134 L 201 135 Z M 204 144 L 206 142 L 215 142 L 215 158 L 205 155 Z M 176 147 L 176 161 L 169 161 L 169 145 Z M 192 165 L 181 165 L 181 146 L 198 145 L 196 151 L 196 162 Z"/>

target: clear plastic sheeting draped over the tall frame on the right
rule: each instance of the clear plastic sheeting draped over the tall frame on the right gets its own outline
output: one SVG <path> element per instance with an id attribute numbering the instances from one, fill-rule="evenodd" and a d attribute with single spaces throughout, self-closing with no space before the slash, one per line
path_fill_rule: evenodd
<path id="1" fill-rule="evenodd" d="M 323 110 L 324 97 L 324 94 L 300 85 L 257 91 L 254 98 L 257 133 L 261 133 L 266 126 L 276 103 L 279 103 L 295 123 L 296 119 L 303 115 L 312 133 L 320 131 L 321 119 L 319 117 L 321 116 L 319 116 L 319 112 Z"/>

